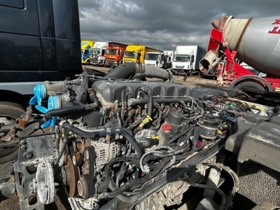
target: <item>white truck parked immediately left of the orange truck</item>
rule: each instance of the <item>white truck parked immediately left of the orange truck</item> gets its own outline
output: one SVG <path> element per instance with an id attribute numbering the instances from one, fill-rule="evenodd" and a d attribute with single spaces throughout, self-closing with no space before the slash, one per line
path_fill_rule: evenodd
<path id="1" fill-rule="evenodd" d="M 108 42 L 97 41 L 92 48 L 92 56 L 90 58 L 90 64 L 94 66 L 104 66 L 106 58 L 106 50 L 108 48 Z"/>

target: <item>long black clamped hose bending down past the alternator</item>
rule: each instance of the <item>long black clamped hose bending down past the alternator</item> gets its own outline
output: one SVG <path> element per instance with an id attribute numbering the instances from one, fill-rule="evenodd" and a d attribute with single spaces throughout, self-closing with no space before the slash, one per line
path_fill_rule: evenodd
<path id="1" fill-rule="evenodd" d="M 123 134 L 123 136 L 125 137 L 125 139 L 127 139 L 127 141 L 130 142 L 130 144 L 132 144 L 132 146 L 134 147 L 134 149 L 137 151 L 137 158 L 141 158 L 142 156 L 142 149 L 139 146 L 139 144 L 137 144 L 137 141 L 135 141 L 132 136 L 130 136 L 130 134 L 124 130 L 123 128 L 111 128 L 110 130 L 100 130 L 100 131 L 94 131 L 94 132 L 87 132 L 84 130 L 80 130 L 78 127 L 75 127 L 73 125 L 70 125 L 69 123 L 62 123 L 61 125 L 65 130 L 69 130 L 70 132 L 73 132 L 75 134 L 78 134 L 78 136 L 80 137 L 85 137 L 85 138 L 89 138 L 89 139 L 93 139 L 95 137 L 106 137 L 107 134 L 111 134 L 111 135 L 116 135 L 116 134 Z"/>

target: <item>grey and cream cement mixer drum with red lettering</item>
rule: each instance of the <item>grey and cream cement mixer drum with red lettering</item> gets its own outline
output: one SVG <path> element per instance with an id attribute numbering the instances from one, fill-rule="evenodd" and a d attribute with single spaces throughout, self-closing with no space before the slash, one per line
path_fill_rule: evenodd
<path id="1" fill-rule="evenodd" d="M 254 69 L 280 76 L 280 15 L 267 18 L 214 20 L 212 25 L 223 31 L 230 50 Z"/>

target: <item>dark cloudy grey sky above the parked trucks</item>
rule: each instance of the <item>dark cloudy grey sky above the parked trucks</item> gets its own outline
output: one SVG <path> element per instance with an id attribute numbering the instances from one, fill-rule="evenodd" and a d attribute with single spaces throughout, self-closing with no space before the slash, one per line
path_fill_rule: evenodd
<path id="1" fill-rule="evenodd" d="M 223 15 L 278 15 L 279 0 L 78 0 L 80 36 L 94 41 L 139 43 L 160 50 L 176 45 L 207 49 L 211 22 Z"/>

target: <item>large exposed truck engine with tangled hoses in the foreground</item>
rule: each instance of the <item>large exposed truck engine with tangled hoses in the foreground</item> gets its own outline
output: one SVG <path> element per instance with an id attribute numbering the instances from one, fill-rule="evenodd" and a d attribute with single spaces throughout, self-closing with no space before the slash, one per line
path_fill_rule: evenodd
<path id="1" fill-rule="evenodd" d="M 112 78 L 116 67 L 34 87 L 25 116 L 1 127 L 18 146 L 1 194 L 18 195 L 21 209 L 42 209 L 58 188 L 72 209 L 174 209 L 184 193 L 202 189 L 193 209 L 229 209 L 239 190 L 230 157 L 280 172 L 278 109 L 142 67 L 128 78 Z M 158 71 L 163 81 L 145 79 Z M 269 161 L 255 154 L 260 146 L 274 150 Z"/>

